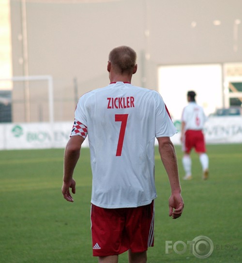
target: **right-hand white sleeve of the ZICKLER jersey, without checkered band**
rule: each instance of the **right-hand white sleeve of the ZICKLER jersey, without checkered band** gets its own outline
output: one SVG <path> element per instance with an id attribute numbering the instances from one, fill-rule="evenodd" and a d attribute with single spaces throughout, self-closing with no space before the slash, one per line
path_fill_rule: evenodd
<path id="1" fill-rule="evenodd" d="M 155 137 L 171 137 L 177 130 L 171 120 L 170 114 L 166 108 L 161 95 L 158 92 L 155 92 Z"/>

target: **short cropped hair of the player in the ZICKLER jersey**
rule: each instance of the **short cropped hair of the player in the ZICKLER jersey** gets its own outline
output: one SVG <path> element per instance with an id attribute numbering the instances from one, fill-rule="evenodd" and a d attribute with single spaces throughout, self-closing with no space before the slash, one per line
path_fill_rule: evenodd
<path id="1" fill-rule="evenodd" d="M 136 66 L 136 52 L 129 46 L 115 47 L 109 53 L 108 60 L 111 62 L 114 70 L 118 73 L 133 73 Z"/>

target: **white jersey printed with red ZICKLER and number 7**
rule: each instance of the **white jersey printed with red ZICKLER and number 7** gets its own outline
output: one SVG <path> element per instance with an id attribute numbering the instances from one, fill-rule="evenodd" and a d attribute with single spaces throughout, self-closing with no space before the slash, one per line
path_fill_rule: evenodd
<path id="1" fill-rule="evenodd" d="M 104 208 L 148 205 L 154 184 L 155 137 L 176 133 L 166 105 L 154 90 L 111 83 L 84 94 L 72 134 L 89 139 L 91 203 Z"/>

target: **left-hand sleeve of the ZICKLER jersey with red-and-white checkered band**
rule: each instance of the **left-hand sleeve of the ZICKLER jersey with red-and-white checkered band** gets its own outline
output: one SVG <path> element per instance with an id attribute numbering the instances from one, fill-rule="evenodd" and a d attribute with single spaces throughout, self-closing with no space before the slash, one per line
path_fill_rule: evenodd
<path id="1" fill-rule="evenodd" d="M 75 121 L 70 137 L 79 135 L 85 139 L 87 137 L 87 134 L 87 118 L 85 114 L 84 100 L 83 97 L 81 97 L 76 105 Z"/>

